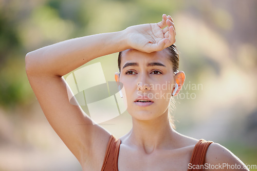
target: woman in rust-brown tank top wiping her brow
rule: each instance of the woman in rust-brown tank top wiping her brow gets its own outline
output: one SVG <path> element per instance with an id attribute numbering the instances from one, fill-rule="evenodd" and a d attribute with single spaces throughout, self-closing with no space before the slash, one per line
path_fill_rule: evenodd
<path id="1" fill-rule="evenodd" d="M 217 170 L 217 165 L 224 166 L 218 170 L 231 170 L 228 165 L 248 170 L 225 147 L 172 128 L 169 103 L 185 80 L 185 74 L 177 72 L 175 34 L 173 19 L 163 14 L 156 24 L 70 39 L 26 55 L 26 72 L 41 108 L 83 170 L 194 170 L 203 164 L 201 170 Z M 93 124 L 79 105 L 69 103 L 62 78 L 92 59 L 116 52 L 121 53 L 115 79 L 124 85 L 121 96 L 133 120 L 132 130 L 120 139 Z"/>

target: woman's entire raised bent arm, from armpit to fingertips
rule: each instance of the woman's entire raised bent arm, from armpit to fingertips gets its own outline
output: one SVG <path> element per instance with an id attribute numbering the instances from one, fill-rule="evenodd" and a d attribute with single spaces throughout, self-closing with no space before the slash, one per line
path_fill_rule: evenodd
<path id="1" fill-rule="evenodd" d="M 27 76 L 47 120 L 83 168 L 100 170 L 110 134 L 93 125 L 79 105 L 69 103 L 62 76 L 103 55 L 129 48 L 160 51 L 172 45 L 175 31 L 171 21 L 163 15 L 156 24 L 70 39 L 26 55 Z"/>

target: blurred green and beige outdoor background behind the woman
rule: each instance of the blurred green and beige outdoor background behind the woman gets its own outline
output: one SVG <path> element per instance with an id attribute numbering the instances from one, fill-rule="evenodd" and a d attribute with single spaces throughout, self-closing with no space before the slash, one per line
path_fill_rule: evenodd
<path id="1" fill-rule="evenodd" d="M 174 19 L 180 70 L 186 73 L 172 114 L 177 131 L 220 143 L 256 166 L 256 9 L 254 0 L 0 0 L 0 170 L 82 170 L 30 88 L 27 52 L 156 23 L 163 13 Z M 117 54 L 95 61 L 114 81 Z M 125 113 L 102 125 L 120 137 L 130 130 L 131 118 Z"/>

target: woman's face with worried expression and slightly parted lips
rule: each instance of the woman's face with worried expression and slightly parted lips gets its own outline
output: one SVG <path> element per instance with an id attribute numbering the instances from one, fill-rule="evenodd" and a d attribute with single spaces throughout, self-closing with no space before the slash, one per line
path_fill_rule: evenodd
<path id="1" fill-rule="evenodd" d="M 168 114 L 174 88 L 172 62 L 168 50 L 144 53 L 134 49 L 122 52 L 119 81 L 123 99 L 134 119 L 151 120 Z"/>

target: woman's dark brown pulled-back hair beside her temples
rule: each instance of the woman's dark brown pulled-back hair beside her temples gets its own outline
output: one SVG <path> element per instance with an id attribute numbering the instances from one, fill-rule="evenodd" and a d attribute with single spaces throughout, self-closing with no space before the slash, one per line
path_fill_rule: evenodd
<path id="1" fill-rule="evenodd" d="M 176 45 L 173 44 L 166 49 L 169 50 L 170 60 L 173 64 L 173 72 L 176 74 L 178 73 L 178 66 L 179 66 L 179 55 L 178 55 L 177 47 Z M 122 55 L 122 51 L 119 52 L 119 56 L 118 56 L 119 71 L 120 71 L 121 55 Z"/>

